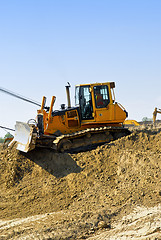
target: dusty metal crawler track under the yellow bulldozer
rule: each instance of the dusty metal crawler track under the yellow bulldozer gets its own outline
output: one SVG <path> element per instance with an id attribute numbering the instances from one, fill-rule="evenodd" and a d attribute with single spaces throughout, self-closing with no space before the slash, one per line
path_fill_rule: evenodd
<path id="1" fill-rule="evenodd" d="M 108 143 L 131 132 L 123 127 L 100 127 L 61 135 L 53 141 L 53 148 L 58 152 L 88 149 L 91 146 Z"/>

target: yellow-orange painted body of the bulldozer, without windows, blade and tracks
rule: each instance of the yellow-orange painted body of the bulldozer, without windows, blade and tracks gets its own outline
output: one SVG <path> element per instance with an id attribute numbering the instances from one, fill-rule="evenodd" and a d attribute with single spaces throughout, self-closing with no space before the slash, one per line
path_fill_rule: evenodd
<path id="1" fill-rule="evenodd" d="M 114 84 L 108 83 L 95 83 L 95 84 L 82 84 L 79 86 L 90 86 L 90 92 L 93 102 L 93 119 L 80 120 L 77 109 L 68 109 L 64 111 L 63 115 L 52 116 L 52 106 L 55 97 L 52 98 L 49 113 L 44 109 L 38 110 L 38 113 L 43 114 L 44 120 L 44 134 L 54 134 L 59 130 L 62 134 L 74 133 L 86 128 L 99 127 L 99 126 L 120 126 L 126 119 L 125 109 L 118 103 L 114 103 L 112 99 L 111 90 Z M 109 104 L 105 108 L 96 108 L 94 99 L 94 86 L 107 85 L 109 89 Z M 42 105 L 44 104 L 44 100 Z"/>

